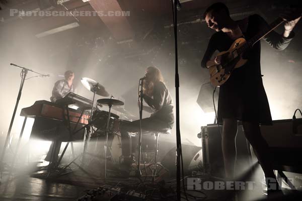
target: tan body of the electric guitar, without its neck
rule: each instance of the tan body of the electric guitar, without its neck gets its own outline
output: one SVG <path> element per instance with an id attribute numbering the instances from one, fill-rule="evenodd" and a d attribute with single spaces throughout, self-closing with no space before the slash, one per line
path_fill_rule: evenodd
<path id="1" fill-rule="evenodd" d="M 237 39 L 229 50 L 219 52 L 221 55 L 221 64 L 217 65 L 214 60 L 209 60 L 206 67 L 209 68 L 210 81 L 214 86 L 220 86 L 226 82 L 231 76 L 233 69 L 243 66 L 248 60 L 243 59 L 241 54 L 238 54 L 238 49 L 246 44 L 244 38 Z"/>

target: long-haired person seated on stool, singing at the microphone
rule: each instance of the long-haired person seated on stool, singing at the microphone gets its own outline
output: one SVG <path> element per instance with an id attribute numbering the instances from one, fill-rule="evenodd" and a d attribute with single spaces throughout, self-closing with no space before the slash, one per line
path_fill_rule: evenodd
<path id="1" fill-rule="evenodd" d="M 143 99 L 148 105 L 143 106 L 143 110 L 151 113 L 151 116 L 142 119 L 142 130 L 158 131 L 172 129 L 174 124 L 173 102 L 160 69 L 153 66 L 148 67 L 143 82 Z M 120 123 L 122 167 L 128 170 L 134 162 L 133 154 L 137 149 L 137 140 L 130 140 L 129 133 L 132 136 L 132 133 L 137 133 L 138 131 L 139 120 Z M 131 142 L 135 143 L 132 144 Z"/>

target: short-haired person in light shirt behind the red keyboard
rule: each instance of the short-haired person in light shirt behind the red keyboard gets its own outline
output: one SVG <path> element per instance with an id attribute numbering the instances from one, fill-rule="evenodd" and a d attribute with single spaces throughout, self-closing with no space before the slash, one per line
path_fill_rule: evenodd
<path id="1" fill-rule="evenodd" d="M 56 81 L 53 86 L 52 96 L 50 97 L 52 103 L 55 103 L 58 99 L 63 98 L 69 92 L 75 92 L 73 85 L 74 72 L 67 70 L 64 73 L 64 77 L 65 79 Z"/>

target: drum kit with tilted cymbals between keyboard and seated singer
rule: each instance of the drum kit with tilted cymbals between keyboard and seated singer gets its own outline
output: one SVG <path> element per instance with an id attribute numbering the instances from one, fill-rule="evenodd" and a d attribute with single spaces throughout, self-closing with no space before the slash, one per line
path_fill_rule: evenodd
<path id="1" fill-rule="evenodd" d="M 94 107 L 95 104 L 95 95 L 101 95 L 101 96 L 109 96 L 109 93 L 106 91 L 105 87 L 102 86 L 100 83 L 97 81 L 83 77 L 81 79 L 82 84 L 90 90 L 91 92 L 94 93 L 93 96 L 93 101 L 92 101 L 92 108 L 91 108 L 91 116 L 90 116 L 90 126 L 93 126 L 97 128 L 98 132 L 96 133 L 96 136 L 100 135 L 105 137 L 105 144 L 104 144 L 104 152 L 103 152 L 103 157 L 105 158 L 105 168 L 104 168 L 104 178 L 106 179 L 107 177 L 107 147 L 108 147 L 108 136 L 110 135 L 110 146 L 112 145 L 112 139 L 113 137 L 111 134 L 118 132 L 116 129 L 114 129 L 113 125 L 116 121 L 119 121 L 119 116 L 116 114 L 111 113 L 111 109 L 116 110 L 120 112 L 122 115 L 128 117 L 127 119 L 130 119 L 131 117 L 135 117 L 131 115 L 128 111 L 123 109 L 121 106 L 124 105 L 124 103 L 121 100 L 114 99 L 113 96 L 110 98 L 101 98 L 97 100 L 96 105 L 99 107 L 107 106 L 109 108 L 109 111 L 101 111 L 97 107 Z M 95 109 L 95 110 L 94 110 Z M 88 134 L 85 140 L 85 145 L 84 145 L 84 152 L 87 150 L 88 146 L 88 140 L 90 137 L 94 136 L 94 134 L 90 134 L 91 128 L 87 129 Z M 105 136 L 104 136 L 105 134 Z M 109 146 L 110 150 L 111 147 Z M 84 159 L 83 159 L 84 161 Z"/>

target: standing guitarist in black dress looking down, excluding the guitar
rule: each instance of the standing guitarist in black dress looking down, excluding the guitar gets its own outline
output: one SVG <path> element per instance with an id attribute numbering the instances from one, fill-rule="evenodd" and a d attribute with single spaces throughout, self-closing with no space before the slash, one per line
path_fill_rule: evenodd
<path id="1" fill-rule="evenodd" d="M 290 19 L 287 16 L 283 19 Z M 232 43 L 241 37 L 247 41 L 259 31 L 268 28 L 266 21 L 259 15 L 252 15 L 240 21 L 230 17 L 229 9 L 222 3 L 211 5 L 204 13 L 207 26 L 216 32 L 211 36 L 201 66 L 206 68 L 213 53 L 228 50 Z M 288 20 L 284 24 L 282 35 L 271 31 L 263 39 L 277 50 L 285 49 L 294 33 L 292 29 L 299 18 Z M 226 178 L 234 177 L 236 159 L 235 137 L 237 121 L 242 121 L 244 133 L 256 152 L 265 173 L 266 180 L 274 182 L 275 175 L 269 160 L 268 144 L 261 136 L 259 125 L 271 125 L 267 96 L 263 87 L 260 68 L 260 41 L 255 43 L 246 55 L 248 59 L 242 67 L 234 69 L 228 81 L 220 86 L 217 120 L 223 124 L 222 153 Z M 220 64 L 221 56 L 214 59 Z"/>

